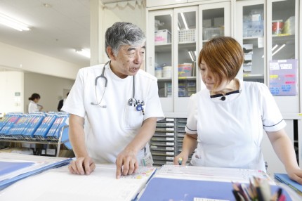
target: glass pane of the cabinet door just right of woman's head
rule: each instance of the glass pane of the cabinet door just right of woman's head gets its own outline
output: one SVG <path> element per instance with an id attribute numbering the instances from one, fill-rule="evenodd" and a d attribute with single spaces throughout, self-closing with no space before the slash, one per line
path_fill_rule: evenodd
<path id="1" fill-rule="evenodd" d="M 263 4 L 243 8 L 243 79 L 264 83 Z"/>

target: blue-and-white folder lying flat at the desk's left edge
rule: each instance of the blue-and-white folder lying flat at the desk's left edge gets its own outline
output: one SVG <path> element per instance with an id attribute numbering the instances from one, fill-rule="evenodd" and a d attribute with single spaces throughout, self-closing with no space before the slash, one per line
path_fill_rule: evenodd
<path id="1" fill-rule="evenodd" d="M 70 158 L 0 153 L 0 190 L 15 181 L 70 163 Z"/>

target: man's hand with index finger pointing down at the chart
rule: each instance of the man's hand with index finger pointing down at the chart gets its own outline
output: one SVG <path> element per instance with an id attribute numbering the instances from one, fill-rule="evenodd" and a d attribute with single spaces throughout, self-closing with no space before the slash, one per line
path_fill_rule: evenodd
<path id="1" fill-rule="evenodd" d="M 117 165 L 117 179 L 119 179 L 121 175 L 133 174 L 136 169 L 138 169 L 136 153 L 129 150 L 123 150 L 117 155 L 115 164 Z"/>

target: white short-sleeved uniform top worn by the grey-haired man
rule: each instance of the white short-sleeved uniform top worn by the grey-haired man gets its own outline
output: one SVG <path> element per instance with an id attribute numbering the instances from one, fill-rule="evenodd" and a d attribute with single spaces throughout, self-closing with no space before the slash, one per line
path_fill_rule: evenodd
<path id="1" fill-rule="evenodd" d="M 106 65 L 107 87 L 104 78 L 98 78 L 95 86 L 96 77 L 102 70 L 101 65 L 79 70 L 62 110 L 85 118 L 89 156 L 98 163 L 114 163 L 117 155 L 136 136 L 143 121 L 150 117 L 163 119 L 164 113 L 158 96 L 157 79 L 151 74 L 139 70 L 135 76 L 134 98 L 144 101 L 143 115 L 142 111 L 128 105 L 133 96 L 133 76 L 121 79 Z M 150 152 L 149 149 L 147 151 Z"/>

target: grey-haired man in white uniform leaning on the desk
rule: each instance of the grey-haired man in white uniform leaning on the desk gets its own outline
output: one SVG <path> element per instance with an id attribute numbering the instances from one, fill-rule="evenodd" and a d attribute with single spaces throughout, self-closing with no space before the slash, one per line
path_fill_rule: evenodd
<path id="1" fill-rule="evenodd" d="M 73 174 L 90 174 L 97 163 L 115 163 L 117 179 L 152 164 L 147 142 L 164 113 L 157 79 L 140 70 L 145 34 L 129 22 L 105 32 L 110 62 L 79 70 L 62 110 L 70 113 L 69 136 L 77 160 Z M 142 110 L 143 109 L 143 110 Z"/>

